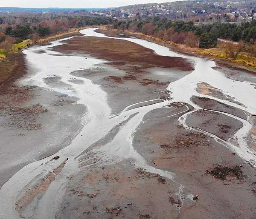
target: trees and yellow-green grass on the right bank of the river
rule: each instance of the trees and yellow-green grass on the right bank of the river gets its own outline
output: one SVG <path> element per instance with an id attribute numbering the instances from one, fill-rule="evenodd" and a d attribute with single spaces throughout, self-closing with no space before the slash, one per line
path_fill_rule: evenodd
<path id="1" fill-rule="evenodd" d="M 256 20 L 240 26 L 232 23 L 196 26 L 191 21 L 149 17 L 147 20 L 114 21 L 108 28 L 143 34 L 187 51 L 256 67 Z"/>

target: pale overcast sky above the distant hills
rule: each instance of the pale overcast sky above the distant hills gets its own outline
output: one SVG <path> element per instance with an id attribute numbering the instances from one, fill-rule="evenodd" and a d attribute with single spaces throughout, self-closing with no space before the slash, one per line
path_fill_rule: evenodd
<path id="1" fill-rule="evenodd" d="M 0 7 L 22 8 L 101 8 L 177 0 L 0 0 Z"/>

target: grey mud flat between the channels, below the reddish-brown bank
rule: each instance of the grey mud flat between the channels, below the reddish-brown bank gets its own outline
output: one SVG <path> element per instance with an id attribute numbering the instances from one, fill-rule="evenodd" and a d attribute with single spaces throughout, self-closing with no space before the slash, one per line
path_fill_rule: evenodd
<path id="1" fill-rule="evenodd" d="M 127 79 L 127 69 L 132 65 L 111 66 L 107 64 L 97 65 L 95 69 L 87 69 L 74 71 L 72 75 L 77 77 L 84 77 L 92 80 L 96 84 L 100 84 L 101 88 L 108 93 L 108 103 L 111 105 L 112 114 L 118 114 L 125 107 L 138 102 L 149 101 L 154 99 L 157 102 L 161 102 L 169 98 L 169 93 L 165 92 L 170 81 L 176 80 L 176 77 L 165 75 L 154 75 L 150 72 L 150 69 L 143 68 L 142 72 L 132 71 L 131 69 L 128 74 L 133 79 Z M 189 74 L 185 71 L 182 75 Z M 142 85 L 141 82 L 152 77 L 157 78 L 160 84 L 149 83 L 148 85 Z M 180 76 L 181 77 L 181 76 Z M 116 79 L 118 78 L 118 80 Z M 119 80 L 120 79 L 120 80 Z M 155 101 L 156 102 L 156 101 Z M 155 102 L 146 102 L 144 105 L 149 105 Z M 131 108 L 139 107 L 140 105 L 134 105 Z M 130 108 L 130 109 L 131 109 Z"/>

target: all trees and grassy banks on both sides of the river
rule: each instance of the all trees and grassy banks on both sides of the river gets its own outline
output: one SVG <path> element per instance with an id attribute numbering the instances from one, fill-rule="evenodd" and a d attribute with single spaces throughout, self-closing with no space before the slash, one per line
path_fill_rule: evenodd
<path id="1" fill-rule="evenodd" d="M 143 34 L 154 40 L 175 44 L 181 49 L 206 54 L 247 66 L 256 66 L 256 20 L 195 25 L 192 21 L 148 17 L 113 19 L 81 14 L 18 14 L 0 19 L 0 60 L 34 42 L 73 34 L 86 26 L 106 25 L 108 29 Z M 218 40 L 222 39 L 222 40 Z M 234 43 L 236 42 L 236 43 Z"/>

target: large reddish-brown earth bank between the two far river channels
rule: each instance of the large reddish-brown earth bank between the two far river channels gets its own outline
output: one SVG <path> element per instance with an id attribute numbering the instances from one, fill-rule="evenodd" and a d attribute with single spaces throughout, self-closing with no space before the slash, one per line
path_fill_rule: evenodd
<path id="1" fill-rule="evenodd" d="M 136 63 L 148 67 L 176 68 L 183 71 L 193 70 L 192 64 L 186 59 L 159 56 L 151 49 L 126 40 L 102 37 L 74 37 L 64 42 L 67 44 L 57 46 L 54 50 L 59 52 L 84 52 L 94 57 L 112 62 L 118 61 L 123 64 Z"/>

